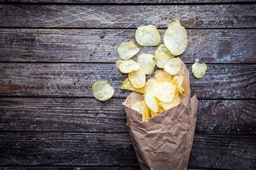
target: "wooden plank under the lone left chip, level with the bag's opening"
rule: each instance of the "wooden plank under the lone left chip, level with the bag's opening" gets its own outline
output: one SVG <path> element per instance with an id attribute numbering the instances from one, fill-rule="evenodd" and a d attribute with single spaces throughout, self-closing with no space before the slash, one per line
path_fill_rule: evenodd
<path id="1" fill-rule="evenodd" d="M 191 70 L 191 65 L 187 65 Z M 127 75 L 114 64 L 0 63 L 1 86 L 19 86 L 26 91 L 0 96 L 93 97 L 91 86 L 108 81 L 114 97 L 127 97 L 120 86 Z M 255 98 L 256 65 L 208 65 L 203 79 L 190 76 L 192 94 L 199 98 Z M 0 87 L 1 87 L 0 86 Z"/>

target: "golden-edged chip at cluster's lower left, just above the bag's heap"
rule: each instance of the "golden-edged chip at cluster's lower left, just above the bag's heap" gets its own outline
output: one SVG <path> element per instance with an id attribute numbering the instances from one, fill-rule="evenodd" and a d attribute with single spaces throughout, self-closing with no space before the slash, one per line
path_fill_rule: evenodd
<path id="1" fill-rule="evenodd" d="M 143 71 L 143 69 L 138 69 L 136 71 L 133 71 L 129 73 L 129 79 L 132 83 L 132 86 L 135 88 L 143 88 L 146 83 L 146 75 Z"/>

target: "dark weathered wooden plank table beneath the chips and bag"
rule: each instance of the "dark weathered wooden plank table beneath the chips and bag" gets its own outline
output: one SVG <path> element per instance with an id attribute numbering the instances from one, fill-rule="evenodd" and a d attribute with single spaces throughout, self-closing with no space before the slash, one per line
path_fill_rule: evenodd
<path id="1" fill-rule="evenodd" d="M 256 168 L 256 4 L 204 0 L 1 0 L 0 165 L 138 169 L 122 106 L 129 91 L 114 62 L 121 42 L 172 19 L 188 32 L 180 58 L 199 98 L 190 168 Z M 100 4 L 100 2 L 104 2 Z M 122 3 L 123 2 L 123 3 Z M 153 53 L 155 47 L 141 48 Z M 99 102 L 91 85 L 107 80 Z M 0 168 L 1 169 L 1 168 Z"/>

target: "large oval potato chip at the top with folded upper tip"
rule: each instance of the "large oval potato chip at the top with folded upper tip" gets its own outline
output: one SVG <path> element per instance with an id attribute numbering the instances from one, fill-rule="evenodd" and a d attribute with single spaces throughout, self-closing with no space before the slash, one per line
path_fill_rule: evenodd
<path id="1" fill-rule="evenodd" d="M 164 44 L 173 55 L 182 54 L 187 47 L 187 31 L 179 21 L 168 25 L 164 34 Z"/>

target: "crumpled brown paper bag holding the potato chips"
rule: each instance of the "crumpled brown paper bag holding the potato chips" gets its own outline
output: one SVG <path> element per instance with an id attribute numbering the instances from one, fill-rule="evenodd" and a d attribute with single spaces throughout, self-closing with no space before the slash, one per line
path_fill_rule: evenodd
<path id="1" fill-rule="evenodd" d="M 177 107 L 142 122 L 142 114 L 131 107 L 143 100 L 143 96 L 132 92 L 123 103 L 141 169 L 187 169 L 198 101 L 196 95 L 190 98 L 189 72 L 184 63 L 180 74 L 184 76 L 185 93 L 180 96 L 182 100 Z"/>

